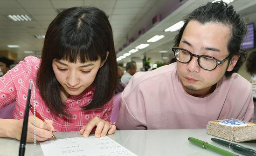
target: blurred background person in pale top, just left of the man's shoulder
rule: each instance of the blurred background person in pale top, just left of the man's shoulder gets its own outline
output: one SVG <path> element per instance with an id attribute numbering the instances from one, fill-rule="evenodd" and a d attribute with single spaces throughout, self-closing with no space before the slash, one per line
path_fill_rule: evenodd
<path id="1" fill-rule="evenodd" d="M 126 63 L 126 72 L 121 78 L 121 82 L 125 83 L 126 85 L 129 83 L 132 75 L 136 73 L 137 66 L 134 61 Z"/>

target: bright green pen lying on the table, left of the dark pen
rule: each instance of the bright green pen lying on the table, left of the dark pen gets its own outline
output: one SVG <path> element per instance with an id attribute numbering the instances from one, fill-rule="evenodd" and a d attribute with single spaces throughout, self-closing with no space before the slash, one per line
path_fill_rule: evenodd
<path id="1" fill-rule="evenodd" d="M 210 150 L 212 150 L 214 152 L 217 152 L 217 153 L 219 153 L 219 154 L 221 154 L 223 156 L 238 156 L 238 155 L 236 155 L 234 153 L 228 152 L 227 150 L 218 148 L 218 147 L 213 146 L 213 145 L 211 145 L 211 144 L 209 144 L 207 142 L 198 140 L 198 139 L 196 139 L 194 137 L 189 137 L 188 141 L 190 141 L 190 142 L 192 142 L 192 143 L 194 143 L 194 144 L 196 144 L 198 146 L 201 146 L 204 149 L 210 149 Z"/>

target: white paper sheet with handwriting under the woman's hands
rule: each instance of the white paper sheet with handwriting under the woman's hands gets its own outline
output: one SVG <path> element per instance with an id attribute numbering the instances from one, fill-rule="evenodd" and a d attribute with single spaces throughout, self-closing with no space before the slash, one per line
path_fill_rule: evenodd
<path id="1" fill-rule="evenodd" d="M 58 139 L 40 145 L 44 156 L 136 156 L 108 136 Z"/>

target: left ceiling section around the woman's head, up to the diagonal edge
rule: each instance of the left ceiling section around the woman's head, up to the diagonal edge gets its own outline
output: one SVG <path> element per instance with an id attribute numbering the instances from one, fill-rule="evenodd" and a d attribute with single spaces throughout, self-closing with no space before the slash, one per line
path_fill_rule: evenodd
<path id="1" fill-rule="evenodd" d="M 98 7 L 109 16 L 113 28 L 114 42 L 122 41 L 125 35 L 152 9 L 158 0 L 0 0 L 0 50 L 14 51 L 18 59 L 24 51 L 42 50 L 43 39 L 35 35 L 45 34 L 49 23 L 58 14 L 57 9 L 75 6 Z M 8 14 L 27 14 L 32 21 L 14 22 Z M 8 48 L 19 45 L 20 48 Z"/>

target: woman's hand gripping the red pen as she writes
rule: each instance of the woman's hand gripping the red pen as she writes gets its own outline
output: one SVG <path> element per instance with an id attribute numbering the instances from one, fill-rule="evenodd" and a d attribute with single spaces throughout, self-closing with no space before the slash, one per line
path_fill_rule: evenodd
<path id="1" fill-rule="evenodd" d="M 49 139 L 54 132 L 52 120 L 45 120 L 47 123 L 43 122 L 39 118 L 35 117 L 35 140 L 37 142 L 42 142 Z M 16 126 L 12 130 L 12 137 L 21 140 L 21 131 L 23 126 L 23 119 L 17 120 Z M 34 116 L 30 115 L 28 117 L 28 133 L 27 142 L 34 142 Z"/>

